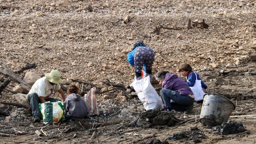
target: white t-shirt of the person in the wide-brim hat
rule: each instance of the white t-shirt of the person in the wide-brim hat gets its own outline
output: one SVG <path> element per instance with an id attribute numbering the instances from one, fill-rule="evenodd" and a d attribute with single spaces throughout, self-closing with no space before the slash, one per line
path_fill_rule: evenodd
<path id="1" fill-rule="evenodd" d="M 29 93 L 37 93 L 38 96 L 48 98 L 54 91 L 60 89 L 60 84 L 51 85 L 46 77 L 42 77 L 35 81 Z M 29 94 L 28 93 L 28 94 Z M 27 95 L 28 96 L 28 95 Z"/>

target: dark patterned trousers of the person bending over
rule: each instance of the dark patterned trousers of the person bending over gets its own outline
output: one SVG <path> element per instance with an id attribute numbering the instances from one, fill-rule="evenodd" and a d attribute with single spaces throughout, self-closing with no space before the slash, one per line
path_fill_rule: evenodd
<path id="1" fill-rule="evenodd" d="M 152 74 L 152 64 L 155 60 L 155 52 L 149 47 L 139 47 L 136 49 L 134 54 L 134 68 L 135 75 L 138 79 L 141 77 L 141 70 L 143 64 L 146 67 L 145 72 L 148 74 Z"/>

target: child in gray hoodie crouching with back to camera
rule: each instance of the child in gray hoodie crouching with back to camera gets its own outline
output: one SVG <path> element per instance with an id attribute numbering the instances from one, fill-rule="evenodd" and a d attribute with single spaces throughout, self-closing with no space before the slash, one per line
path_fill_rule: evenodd
<path id="1" fill-rule="evenodd" d="M 88 107 L 83 98 L 78 94 L 79 88 L 74 84 L 70 84 L 67 89 L 67 96 L 64 102 L 65 119 L 84 118 L 89 113 Z M 65 119 L 63 121 L 65 121 Z"/>

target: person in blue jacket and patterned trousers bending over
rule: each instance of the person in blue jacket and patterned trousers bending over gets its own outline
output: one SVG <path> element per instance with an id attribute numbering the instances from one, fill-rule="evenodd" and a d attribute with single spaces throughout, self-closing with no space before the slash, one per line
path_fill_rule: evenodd
<path id="1" fill-rule="evenodd" d="M 154 60 L 155 52 L 150 47 L 146 47 L 143 41 L 135 42 L 132 51 L 127 54 L 127 61 L 134 67 L 137 80 L 142 79 L 141 71 L 144 66 L 146 76 L 150 77 L 152 83 L 152 64 Z"/>

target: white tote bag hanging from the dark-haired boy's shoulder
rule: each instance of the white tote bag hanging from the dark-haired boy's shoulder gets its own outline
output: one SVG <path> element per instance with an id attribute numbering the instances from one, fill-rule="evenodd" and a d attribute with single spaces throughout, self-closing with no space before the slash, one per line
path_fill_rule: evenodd
<path id="1" fill-rule="evenodd" d="M 195 75 L 196 75 L 196 73 L 195 73 Z M 187 82 L 189 82 L 189 81 L 187 80 Z M 205 94 L 205 92 L 203 92 L 202 85 L 201 85 L 201 80 L 197 80 L 197 76 L 196 76 L 195 85 L 190 87 L 190 89 L 194 93 L 196 101 L 203 100 L 203 95 Z"/>

